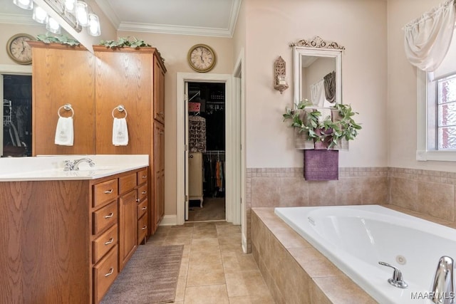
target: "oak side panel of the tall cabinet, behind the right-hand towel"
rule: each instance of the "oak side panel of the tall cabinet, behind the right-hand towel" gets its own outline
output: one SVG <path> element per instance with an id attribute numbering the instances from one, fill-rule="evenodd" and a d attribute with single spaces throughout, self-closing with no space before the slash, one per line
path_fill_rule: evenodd
<path id="1" fill-rule="evenodd" d="M 96 56 L 95 149 L 97 154 L 150 154 L 153 53 L 103 48 Z M 120 112 L 118 105 L 125 111 Z M 128 145 L 113 145 L 113 116 L 126 116 Z"/>

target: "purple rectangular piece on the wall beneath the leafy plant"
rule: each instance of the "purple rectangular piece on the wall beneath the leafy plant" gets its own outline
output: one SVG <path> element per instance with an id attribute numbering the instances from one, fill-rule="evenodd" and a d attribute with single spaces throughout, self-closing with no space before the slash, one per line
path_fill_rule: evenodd
<path id="1" fill-rule="evenodd" d="M 338 150 L 304 150 L 304 178 L 308 181 L 338 180 Z"/>

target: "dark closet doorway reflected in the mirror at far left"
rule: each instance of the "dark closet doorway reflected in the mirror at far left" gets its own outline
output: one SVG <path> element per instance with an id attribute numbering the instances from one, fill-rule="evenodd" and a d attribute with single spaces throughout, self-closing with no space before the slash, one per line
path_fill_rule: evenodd
<path id="1" fill-rule="evenodd" d="M 2 75 L 1 157 L 31 156 L 31 75 Z"/>

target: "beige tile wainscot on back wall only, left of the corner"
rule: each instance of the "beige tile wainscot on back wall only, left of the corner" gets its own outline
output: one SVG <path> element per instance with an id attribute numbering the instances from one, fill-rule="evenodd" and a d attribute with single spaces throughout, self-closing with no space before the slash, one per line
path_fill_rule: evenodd
<path id="1" fill-rule="evenodd" d="M 339 168 L 334 181 L 306 181 L 303 168 L 248 168 L 247 252 L 251 252 L 252 208 L 385 204 L 388 168 Z"/>

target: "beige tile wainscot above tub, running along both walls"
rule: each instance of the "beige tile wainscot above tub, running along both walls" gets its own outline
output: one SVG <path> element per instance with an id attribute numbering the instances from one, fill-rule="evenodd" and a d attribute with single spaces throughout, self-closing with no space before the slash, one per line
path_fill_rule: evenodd
<path id="1" fill-rule="evenodd" d="M 247 252 L 252 208 L 391 204 L 456 221 L 456 173 L 394 167 L 339 168 L 336 181 L 306 181 L 302 168 L 249 168 L 246 178 Z"/>

